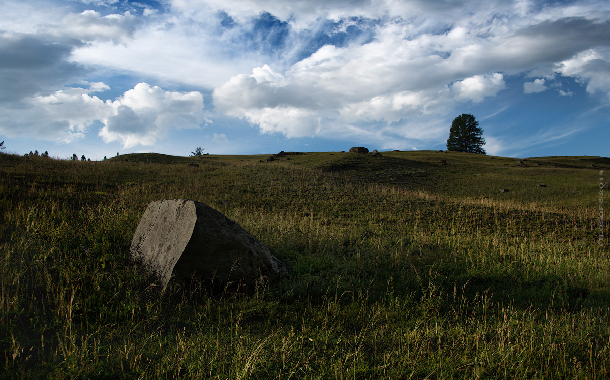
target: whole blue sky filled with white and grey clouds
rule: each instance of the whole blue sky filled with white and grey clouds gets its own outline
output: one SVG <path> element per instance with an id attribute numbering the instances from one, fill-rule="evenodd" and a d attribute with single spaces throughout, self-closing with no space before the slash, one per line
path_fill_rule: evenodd
<path id="1" fill-rule="evenodd" d="M 6 152 L 610 156 L 610 2 L 3 0 Z"/>

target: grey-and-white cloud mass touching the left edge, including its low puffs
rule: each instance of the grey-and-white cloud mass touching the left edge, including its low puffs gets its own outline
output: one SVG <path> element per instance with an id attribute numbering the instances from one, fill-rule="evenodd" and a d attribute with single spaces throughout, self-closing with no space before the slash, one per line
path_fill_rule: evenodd
<path id="1" fill-rule="evenodd" d="M 40 27 L 40 33 L 0 34 L 0 132 L 71 143 L 100 123 L 104 142 L 131 148 L 204 123 L 199 92 L 140 83 L 117 99 L 102 100 L 95 94 L 110 90 L 108 85 L 82 81 L 93 69 L 73 62 L 73 52 L 91 41 L 125 43 L 138 23 L 129 12 L 102 16 L 86 10 Z M 88 87 L 69 85 L 73 81 Z"/>

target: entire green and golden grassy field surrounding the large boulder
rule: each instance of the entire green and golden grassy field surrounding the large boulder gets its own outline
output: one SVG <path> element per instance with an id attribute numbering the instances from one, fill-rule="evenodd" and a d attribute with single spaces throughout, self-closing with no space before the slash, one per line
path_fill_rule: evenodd
<path id="1" fill-rule="evenodd" d="M 382 154 L 0 155 L 0 378 L 610 377 L 610 159 Z M 160 292 L 128 253 L 172 198 L 289 278 Z"/>

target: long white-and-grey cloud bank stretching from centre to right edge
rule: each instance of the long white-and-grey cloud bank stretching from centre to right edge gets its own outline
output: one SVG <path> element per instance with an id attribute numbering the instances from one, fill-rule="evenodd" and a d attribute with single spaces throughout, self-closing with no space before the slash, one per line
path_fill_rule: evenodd
<path id="1" fill-rule="evenodd" d="M 440 141 L 444 131 L 424 136 L 418 122 L 444 119 L 461 104 L 497 95 L 506 88 L 506 75 L 545 70 L 548 77 L 575 77 L 589 91 L 610 92 L 609 60 L 601 53 L 610 41 L 609 21 L 570 16 L 539 22 L 532 15 L 523 22 L 536 24 L 511 30 L 478 16 L 420 34 L 412 24 L 391 20 L 367 43 L 325 45 L 284 71 L 264 65 L 233 76 L 215 88 L 213 101 L 219 112 L 286 137 L 346 131 L 370 137 L 373 131 L 378 140 Z M 526 83 L 524 92 L 545 88 L 538 79 Z M 365 131 L 359 127 L 364 123 Z"/>

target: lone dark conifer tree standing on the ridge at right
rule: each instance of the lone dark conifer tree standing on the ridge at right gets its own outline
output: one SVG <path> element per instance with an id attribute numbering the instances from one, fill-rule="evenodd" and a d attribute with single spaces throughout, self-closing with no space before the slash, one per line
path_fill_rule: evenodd
<path id="1" fill-rule="evenodd" d="M 454 152 L 468 152 L 486 154 L 483 145 L 485 139 L 483 129 L 479 122 L 470 113 L 462 113 L 451 123 L 449 138 L 447 139 L 447 150 Z"/>

